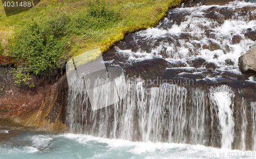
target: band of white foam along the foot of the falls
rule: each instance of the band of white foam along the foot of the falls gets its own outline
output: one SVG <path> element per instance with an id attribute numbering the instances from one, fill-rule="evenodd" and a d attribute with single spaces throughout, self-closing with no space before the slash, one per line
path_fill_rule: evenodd
<path id="1" fill-rule="evenodd" d="M 124 151 L 125 153 L 132 153 L 134 156 L 131 158 L 236 158 L 231 154 L 245 154 L 246 152 L 252 153 L 252 151 L 218 149 L 203 145 L 131 142 L 121 139 L 104 139 L 88 135 L 65 134 L 63 137 L 75 140 L 84 145 L 93 144 L 109 147 L 110 151 L 119 150 L 120 152 Z M 166 157 L 166 155 L 168 155 L 168 157 Z M 243 158 L 242 155 L 241 158 Z"/>

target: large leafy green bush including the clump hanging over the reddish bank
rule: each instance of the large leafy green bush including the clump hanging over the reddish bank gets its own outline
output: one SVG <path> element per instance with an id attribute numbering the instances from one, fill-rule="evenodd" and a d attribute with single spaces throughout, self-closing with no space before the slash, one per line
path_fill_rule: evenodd
<path id="1" fill-rule="evenodd" d="M 62 60 L 67 60 L 67 40 L 56 34 L 60 30 L 53 28 L 55 32 L 48 32 L 49 29 L 44 26 L 32 21 L 14 36 L 11 55 L 17 60 L 18 67 L 12 72 L 17 85 L 21 82 L 29 85 L 27 81 L 31 80 L 30 72 L 49 77 L 65 65 Z"/>

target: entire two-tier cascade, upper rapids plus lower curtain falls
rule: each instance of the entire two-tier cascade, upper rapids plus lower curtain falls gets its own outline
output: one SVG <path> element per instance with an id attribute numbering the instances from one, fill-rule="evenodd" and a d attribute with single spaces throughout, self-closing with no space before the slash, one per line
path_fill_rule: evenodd
<path id="1" fill-rule="evenodd" d="M 121 67 L 127 77 L 125 85 L 116 82 L 127 89 L 123 99 L 94 111 L 84 91 L 90 85 L 74 78 L 66 119 L 71 133 L 256 150 L 255 102 L 241 93 L 254 81 L 237 66 L 254 43 L 256 6 L 186 5 L 169 10 L 156 28 L 129 34 L 105 52 L 106 67 Z"/>

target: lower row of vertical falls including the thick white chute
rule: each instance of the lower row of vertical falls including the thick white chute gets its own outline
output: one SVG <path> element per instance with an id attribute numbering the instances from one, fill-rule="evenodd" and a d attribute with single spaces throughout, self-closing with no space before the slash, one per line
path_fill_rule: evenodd
<path id="1" fill-rule="evenodd" d="M 146 88 L 144 83 L 141 78 L 130 79 L 126 83 L 128 93 L 122 100 L 93 111 L 87 92 L 81 89 L 83 80 L 74 80 L 68 98 L 70 131 L 131 141 L 202 145 L 207 144 L 210 133 L 220 132 L 221 147 L 231 149 L 234 134 L 231 88 L 211 87 L 207 94 L 200 88 L 187 89 L 167 83 Z M 216 124 L 218 129 L 215 129 Z M 246 126 L 243 115 L 242 143 Z M 218 137 L 211 138 L 217 140 Z"/>

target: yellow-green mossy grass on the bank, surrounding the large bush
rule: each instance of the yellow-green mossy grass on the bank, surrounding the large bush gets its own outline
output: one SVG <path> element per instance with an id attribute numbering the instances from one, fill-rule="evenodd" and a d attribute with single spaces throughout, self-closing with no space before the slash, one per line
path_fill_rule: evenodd
<path id="1" fill-rule="evenodd" d="M 1 1 L 0 44 L 4 48 L 2 54 L 5 52 L 5 56 L 12 56 L 19 65 L 26 61 L 26 59 L 20 60 L 22 58 L 19 56 L 20 50 L 17 51 L 13 46 L 23 47 L 22 44 L 17 44 L 20 41 L 17 38 L 15 40 L 15 37 L 27 33 L 28 26 L 33 22 L 38 24 L 46 38 L 53 36 L 56 41 L 65 39 L 69 44 L 66 60 L 95 48 L 100 48 L 103 53 L 122 40 L 125 34 L 156 26 L 165 16 L 168 8 L 178 6 L 181 1 L 41 0 L 32 9 L 9 17 L 5 15 Z M 13 54 L 15 51 L 16 53 Z M 31 62 L 28 65 L 31 65 Z M 34 68 L 34 66 L 26 66 L 26 68 L 32 67 Z M 27 70 L 34 72 L 32 69 Z M 38 73 L 38 70 L 36 71 Z"/>

